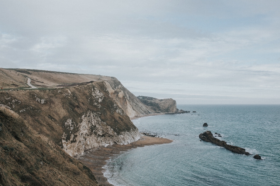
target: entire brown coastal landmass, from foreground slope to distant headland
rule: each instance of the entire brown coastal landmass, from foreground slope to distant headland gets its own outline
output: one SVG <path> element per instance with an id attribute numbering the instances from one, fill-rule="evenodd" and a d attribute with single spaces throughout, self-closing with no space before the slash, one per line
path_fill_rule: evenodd
<path id="1" fill-rule="evenodd" d="M 183 113 L 172 99 L 143 104 L 115 77 L 0 68 L 0 80 L 0 185 L 98 185 L 85 152 L 136 143 L 131 118 Z M 160 139 L 139 145 L 171 142 Z"/>

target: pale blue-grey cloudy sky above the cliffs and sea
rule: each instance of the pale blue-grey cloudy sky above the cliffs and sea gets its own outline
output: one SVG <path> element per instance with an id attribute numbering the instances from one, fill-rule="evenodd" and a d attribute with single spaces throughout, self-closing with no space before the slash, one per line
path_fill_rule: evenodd
<path id="1" fill-rule="evenodd" d="M 0 67 L 113 76 L 177 104 L 280 104 L 280 1 L 0 0 Z"/>

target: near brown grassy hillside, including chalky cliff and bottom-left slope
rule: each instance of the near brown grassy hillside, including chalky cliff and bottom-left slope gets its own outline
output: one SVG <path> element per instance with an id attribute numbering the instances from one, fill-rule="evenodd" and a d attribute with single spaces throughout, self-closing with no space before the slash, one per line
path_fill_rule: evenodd
<path id="1" fill-rule="evenodd" d="M 83 152 L 88 139 L 121 144 L 138 131 L 105 82 L 0 91 L 0 120 L 1 185 L 97 185 L 91 170 L 70 155 Z"/>

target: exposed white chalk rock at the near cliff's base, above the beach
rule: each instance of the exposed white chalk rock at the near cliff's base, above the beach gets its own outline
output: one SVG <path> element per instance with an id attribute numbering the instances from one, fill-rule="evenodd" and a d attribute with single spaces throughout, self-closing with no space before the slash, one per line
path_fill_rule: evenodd
<path id="1" fill-rule="evenodd" d="M 62 135 L 62 145 L 65 152 L 75 156 L 94 147 L 106 147 L 113 144 L 126 145 L 141 137 L 137 128 L 117 134 L 110 126 L 106 125 L 106 122 L 101 121 L 99 114 L 88 111 L 82 116 L 81 123 L 75 123 L 71 118 L 65 122 L 64 127 L 69 131 Z"/>

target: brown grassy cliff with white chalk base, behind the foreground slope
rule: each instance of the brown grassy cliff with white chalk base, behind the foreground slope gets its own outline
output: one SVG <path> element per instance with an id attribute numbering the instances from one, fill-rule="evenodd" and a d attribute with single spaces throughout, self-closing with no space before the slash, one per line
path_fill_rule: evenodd
<path id="1" fill-rule="evenodd" d="M 1 91 L 0 104 L 75 156 L 93 147 L 129 144 L 140 138 L 120 107 L 127 104 L 123 87 L 117 91 L 110 87 L 99 81 L 68 88 Z"/>

